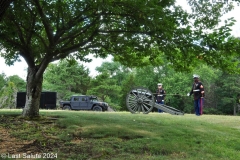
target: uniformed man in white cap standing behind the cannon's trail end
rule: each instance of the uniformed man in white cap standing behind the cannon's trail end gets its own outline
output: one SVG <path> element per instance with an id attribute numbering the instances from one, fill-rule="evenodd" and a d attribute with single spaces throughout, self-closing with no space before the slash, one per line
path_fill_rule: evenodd
<path id="1" fill-rule="evenodd" d="M 194 109 L 195 114 L 197 116 L 200 116 L 203 114 L 203 97 L 204 97 L 204 87 L 202 82 L 199 80 L 200 76 L 194 74 L 193 80 L 194 83 L 192 85 L 192 90 L 190 93 L 188 93 L 188 96 L 191 96 L 193 94 L 194 97 Z"/>

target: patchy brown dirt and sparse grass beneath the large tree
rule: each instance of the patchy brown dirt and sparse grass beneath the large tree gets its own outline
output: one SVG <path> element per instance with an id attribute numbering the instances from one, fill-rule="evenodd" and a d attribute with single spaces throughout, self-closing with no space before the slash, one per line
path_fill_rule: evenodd
<path id="1" fill-rule="evenodd" d="M 88 139 L 83 139 L 57 125 L 57 119 L 43 117 L 40 120 L 29 120 L 18 116 L 0 115 L 0 160 L 56 159 L 55 156 L 57 159 L 95 158 L 96 153 L 92 151 L 94 143 L 89 143 Z M 45 153 L 52 156 L 43 158 Z M 25 158 L 24 155 L 33 155 L 33 158 Z M 41 157 L 34 157 L 35 155 Z"/>

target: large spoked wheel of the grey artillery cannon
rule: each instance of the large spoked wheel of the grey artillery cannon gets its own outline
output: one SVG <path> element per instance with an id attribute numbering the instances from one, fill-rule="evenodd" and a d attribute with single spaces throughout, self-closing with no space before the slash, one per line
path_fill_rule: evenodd
<path id="1" fill-rule="evenodd" d="M 126 97 L 126 105 L 131 113 L 143 112 L 147 114 L 154 107 L 154 96 L 146 88 L 134 88 Z"/>

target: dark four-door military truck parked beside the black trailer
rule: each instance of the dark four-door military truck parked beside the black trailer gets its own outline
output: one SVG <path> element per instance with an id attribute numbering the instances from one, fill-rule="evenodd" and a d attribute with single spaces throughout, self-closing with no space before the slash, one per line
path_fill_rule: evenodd
<path id="1" fill-rule="evenodd" d="M 108 104 L 98 101 L 96 96 L 72 96 L 69 101 L 60 101 L 59 104 L 63 110 L 108 110 Z"/>

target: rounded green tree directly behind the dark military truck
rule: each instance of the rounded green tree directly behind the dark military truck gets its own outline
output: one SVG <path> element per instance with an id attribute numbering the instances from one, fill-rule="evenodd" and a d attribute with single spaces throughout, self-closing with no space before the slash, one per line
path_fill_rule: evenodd
<path id="1" fill-rule="evenodd" d="M 50 64 L 44 74 L 43 90 L 57 92 L 59 99 L 86 94 L 90 85 L 89 74 L 89 69 L 76 61 Z"/>

